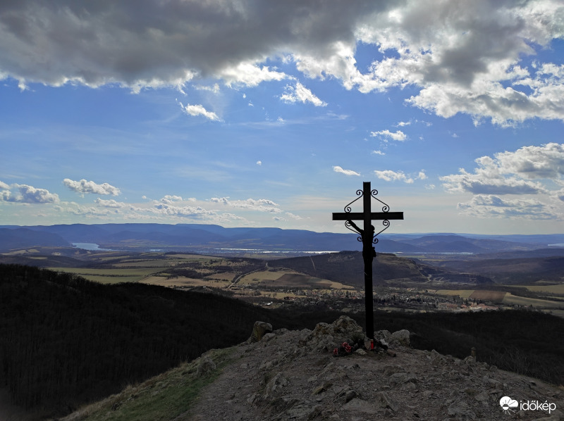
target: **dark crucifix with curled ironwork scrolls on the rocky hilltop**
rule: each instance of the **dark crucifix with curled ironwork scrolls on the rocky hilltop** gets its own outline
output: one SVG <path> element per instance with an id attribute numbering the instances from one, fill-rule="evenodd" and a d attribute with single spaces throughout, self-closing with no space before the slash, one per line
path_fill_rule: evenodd
<path id="1" fill-rule="evenodd" d="M 347 206 L 345 206 L 345 212 L 341 213 L 333 213 L 333 220 L 334 221 L 346 221 L 345 227 L 353 232 L 357 232 L 360 234 L 358 241 L 362 241 L 362 258 L 364 260 L 364 291 L 366 293 L 364 308 L 366 311 L 366 334 L 369 339 L 374 339 L 374 304 L 372 298 L 372 260 L 376 256 L 376 251 L 372 246 L 373 241 L 374 243 L 378 242 L 376 236 L 380 234 L 380 232 L 386 230 L 390 225 L 389 220 L 393 219 L 402 219 L 403 220 L 403 212 L 388 212 L 390 210 L 389 206 L 386 205 L 383 201 L 376 197 L 378 191 L 370 189 L 370 182 L 363 182 L 362 183 L 362 190 L 357 190 L 357 199 L 350 202 Z M 364 206 L 364 212 L 351 212 L 350 205 L 353 202 L 357 201 L 362 197 L 362 203 Z M 374 198 L 380 203 L 383 203 L 384 206 L 382 207 L 383 212 L 372 212 L 370 208 L 370 199 Z M 364 221 L 364 230 L 361 230 L 353 220 L 362 220 Z M 372 225 L 372 220 L 381 220 L 382 225 L 384 225 L 384 230 L 381 230 L 377 234 L 374 234 L 374 226 Z M 353 227 L 351 229 L 350 227 Z M 372 233 L 367 234 L 368 232 Z"/>

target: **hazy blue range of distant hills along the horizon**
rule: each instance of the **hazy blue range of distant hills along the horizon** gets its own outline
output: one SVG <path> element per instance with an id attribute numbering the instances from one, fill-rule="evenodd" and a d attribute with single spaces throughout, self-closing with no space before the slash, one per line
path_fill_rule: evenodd
<path id="1" fill-rule="evenodd" d="M 105 249 L 260 249 L 269 251 L 361 250 L 357 234 L 281 230 L 280 228 L 225 228 L 205 224 L 73 224 L 51 226 L 0 226 L 0 252 L 33 246 L 71 246 L 94 243 Z M 381 234 L 376 251 L 381 253 L 498 253 L 530 251 L 558 244 L 558 236 L 526 236 L 517 239 L 459 234 Z M 544 241 L 543 241 L 544 239 Z M 540 241 L 540 242 L 539 242 Z M 562 250 L 563 248 L 554 248 Z"/>

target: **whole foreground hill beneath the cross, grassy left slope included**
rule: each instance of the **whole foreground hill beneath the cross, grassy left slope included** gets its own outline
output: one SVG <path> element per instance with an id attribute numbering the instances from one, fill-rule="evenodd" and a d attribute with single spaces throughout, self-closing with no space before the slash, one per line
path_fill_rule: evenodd
<path id="1" fill-rule="evenodd" d="M 332 355 L 335 344 L 353 343 L 360 332 L 346 317 L 313 330 L 278 329 L 259 342 L 209 351 L 63 421 L 563 417 L 562 389 L 499 370 L 479 358 L 417 351 L 410 348 L 406 331 L 379 332 L 388 341 L 389 353 L 361 347 L 348 356 Z M 505 396 L 516 401 L 517 408 L 512 403 L 504 410 Z M 545 410 L 532 410 L 531 401 L 546 403 Z M 544 418 L 548 415 L 551 418 Z"/>

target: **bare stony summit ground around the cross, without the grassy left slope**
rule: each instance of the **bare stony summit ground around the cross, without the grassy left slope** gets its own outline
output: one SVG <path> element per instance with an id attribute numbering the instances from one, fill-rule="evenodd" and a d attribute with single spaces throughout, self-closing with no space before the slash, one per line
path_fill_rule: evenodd
<path id="1" fill-rule="evenodd" d="M 236 346 L 176 421 L 564 420 L 563 390 L 472 356 L 412 349 L 406 332 L 376 332 L 374 351 L 350 345 L 364 335 L 346 316 L 312 331 L 266 333 Z"/>

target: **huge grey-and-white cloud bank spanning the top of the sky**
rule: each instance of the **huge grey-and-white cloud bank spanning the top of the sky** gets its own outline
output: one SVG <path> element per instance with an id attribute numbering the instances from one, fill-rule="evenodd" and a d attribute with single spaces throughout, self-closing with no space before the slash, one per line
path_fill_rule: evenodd
<path id="1" fill-rule="evenodd" d="M 290 78 L 276 63 L 294 64 L 364 93 L 410 87 L 411 106 L 508 126 L 564 120 L 564 66 L 529 65 L 562 38 L 563 20 L 560 0 L 9 1 L 0 8 L 0 77 L 22 89 L 139 92 L 200 80 L 256 86 Z M 364 72 L 357 43 L 380 53 Z"/>

